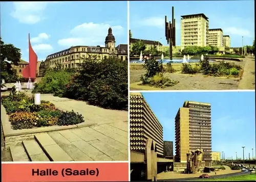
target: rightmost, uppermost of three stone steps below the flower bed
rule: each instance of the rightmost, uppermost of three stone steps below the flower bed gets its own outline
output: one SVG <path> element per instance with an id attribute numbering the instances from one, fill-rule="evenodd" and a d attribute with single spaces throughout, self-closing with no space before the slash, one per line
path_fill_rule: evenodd
<path id="1" fill-rule="evenodd" d="M 50 161 L 73 161 L 47 133 L 36 134 L 34 138 Z"/>

